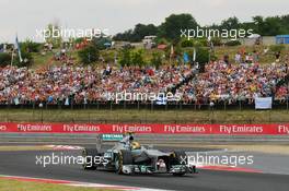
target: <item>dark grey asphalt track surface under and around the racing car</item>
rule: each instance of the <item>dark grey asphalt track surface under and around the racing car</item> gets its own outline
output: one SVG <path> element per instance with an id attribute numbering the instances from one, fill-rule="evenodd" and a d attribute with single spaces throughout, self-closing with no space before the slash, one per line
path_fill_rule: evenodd
<path id="1" fill-rule="evenodd" d="M 36 155 L 80 155 L 80 151 L 0 152 L 0 175 L 49 178 L 164 190 L 189 191 L 288 191 L 288 175 L 199 170 L 197 175 L 123 176 L 108 171 L 82 170 L 80 165 L 36 165 Z"/>

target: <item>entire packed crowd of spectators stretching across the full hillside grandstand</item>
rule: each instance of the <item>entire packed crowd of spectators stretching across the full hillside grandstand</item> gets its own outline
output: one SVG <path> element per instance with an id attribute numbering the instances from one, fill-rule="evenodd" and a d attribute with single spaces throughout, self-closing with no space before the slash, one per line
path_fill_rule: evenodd
<path id="1" fill-rule="evenodd" d="M 111 100 L 120 92 L 159 94 L 175 89 L 183 103 L 210 104 L 226 100 L 254 103 L 255 97 L 288 98 L 288 85 L 277 84 L 288 76 L 288 65 L 257 62 L 206 64 L 195 73 L 189 64 L 153 67 L 73 67 L 45 69 L 5 67 L 0 69 L 1 104 L 86 104 Z M 192 77 L 194 76 L 194 77 Z"/>

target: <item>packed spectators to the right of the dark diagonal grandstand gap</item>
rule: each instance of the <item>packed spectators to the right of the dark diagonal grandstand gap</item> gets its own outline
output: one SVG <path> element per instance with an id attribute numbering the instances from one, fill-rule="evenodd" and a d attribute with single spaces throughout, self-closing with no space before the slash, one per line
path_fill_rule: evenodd
<path id="1" fill-rule="evenodd" d="M 253 103 L 255 97 L 275 97 L 285 102 L 288 87 L 277 88 L 277 84 L 287 75 L 286 64 L 231 64 L 220 60 L 208 63 L 205 73 L 196 74 L 178 93 L 183 95 L 184 102 L 199 104 L 220 100 L 229 104 L 238 100 Z"/>

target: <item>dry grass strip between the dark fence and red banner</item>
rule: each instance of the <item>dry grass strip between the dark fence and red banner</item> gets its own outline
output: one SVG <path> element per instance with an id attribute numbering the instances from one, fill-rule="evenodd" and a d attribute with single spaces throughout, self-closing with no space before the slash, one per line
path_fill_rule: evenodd
<path id="1" fill-rule="evenodd" d="M 274 123 L 289 122 L 289 110 L 96 110 L 1 109 L 2 122 L 93 123 Z"/>

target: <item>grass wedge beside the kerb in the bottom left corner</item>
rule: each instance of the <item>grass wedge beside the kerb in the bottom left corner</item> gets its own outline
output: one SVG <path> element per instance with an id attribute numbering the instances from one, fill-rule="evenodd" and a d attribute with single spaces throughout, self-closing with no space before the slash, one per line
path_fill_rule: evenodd
<path id="1" fill-rule="evenodd" d="M 53 183 L 39 183 L 39 182 L 24 182 L 18 180 L 4 180 L 0 179 L 1 191 L 108 191 L 108 189 L 94 189 L 94 188 L 81 188 L 69 187 Z"/>

